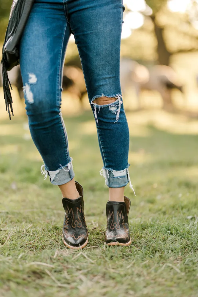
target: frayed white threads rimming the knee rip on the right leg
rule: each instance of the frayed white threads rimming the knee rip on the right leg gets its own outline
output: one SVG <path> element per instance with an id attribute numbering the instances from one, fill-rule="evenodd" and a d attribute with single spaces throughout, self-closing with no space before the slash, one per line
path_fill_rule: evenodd
<path id="1" fill-rule="evenodd" d="M 99 105 L 99 104 L 96 104 L 94 103 L 94 100 L 97 99 L 97 98 L 100 98 L 100 97 L 107 97 L 107 98 L 117 98 L 117 100 L 115 100 L 115 102 L 112 102 L 110 104 L 104 104 L 104 105 Z M 94 105 L 94 117 L 95 117 L 95 120 L 96 120 L 96 123 L 98 124 L 98 117 L 97 117 L 97 108 L 99 109 L 98 110 L 98 113 L 100 111 L 100 108 L 104 108 L 104 107 L 109 107 L 109 110 L 111 112 L 113 112 L 114 114 L 116 114 L 116 119 L 115 119 L 115 122 L 116 123 L 118 120 L 119 120 L 119 115 L 120 115 L 120 109 L 121 109 L 121 104 L 122 104 L 122 96 L 121 94 L 117 94 L 117 95 L 111 95 L 111 96 L 105 96 L 104 94 L 102 95 L 96 95 L 92 98 L 91 100 L 91 104 Z"/>

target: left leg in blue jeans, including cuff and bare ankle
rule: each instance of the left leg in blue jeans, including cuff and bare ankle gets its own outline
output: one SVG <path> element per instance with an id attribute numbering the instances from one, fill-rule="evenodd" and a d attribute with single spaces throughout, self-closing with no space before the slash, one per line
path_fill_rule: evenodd
<path id="1" fill-rule="evenodd" d="M 61 115 L 62 68 L 70 36 L 64 5 L 35 1 L 20 43 L 20 67 L 32 139 L 45 162 L 45 178 L 76 199 L 72 159 Z M 52 1 L 51 1 L 52 2 Z"/>

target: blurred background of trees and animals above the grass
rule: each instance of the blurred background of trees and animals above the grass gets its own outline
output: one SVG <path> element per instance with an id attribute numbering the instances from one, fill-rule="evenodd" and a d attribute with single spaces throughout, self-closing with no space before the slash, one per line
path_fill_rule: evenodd
<path id="1" fill-rule="evenodd" d="M 0 0 L 3 43 L 12 1 Z M 127 111 L 164 109 L 198 115 L 198 1 L 124 0 L 121 86 Z M 20 68 L 9 72 L 15 116 L 25 114 Z M 0 74 L 0 97 L 2 77 Z M 63 113 L 90 110 L 73 35 L 66 52 Z M 1 118 L 7 117 L 0 100 Z"/>

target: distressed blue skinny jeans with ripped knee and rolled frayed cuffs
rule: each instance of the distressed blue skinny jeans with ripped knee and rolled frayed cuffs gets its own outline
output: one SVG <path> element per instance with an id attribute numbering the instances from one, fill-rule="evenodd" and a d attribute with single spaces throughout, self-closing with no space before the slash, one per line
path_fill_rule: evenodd
<path id="1" fill-rule="evenodd" d="M 20 67 L 32 139 L 54 185 L 74 178 L 61 115 L 66 46 L 74 34 L 96 120 L 108 187 L 126 186 L 129 129 L 120 86 L 122 0 L 35 0 L 20 42 Z M 99 97 L 115 102 L 97 105 Z M 131 183 L 130 183 L 131 186 Z M 132 187 L 132 186 L 131 186 Z"/>

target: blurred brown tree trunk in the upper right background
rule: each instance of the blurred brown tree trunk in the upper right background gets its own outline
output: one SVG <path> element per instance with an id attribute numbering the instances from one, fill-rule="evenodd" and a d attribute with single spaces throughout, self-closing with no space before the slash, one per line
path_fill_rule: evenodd
<path id="1" fill-rule="evenodd" d="M 154 32 L 157 38 L 157 53 L 159 64 L 169 66 L 171 53 L 167 50 L 166 43 L 164 41 L 164 29 L 160 28 L 156 24 L 155 15 L 151 15 L 151 20 L 153 21 Z"/>

